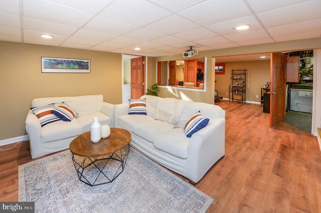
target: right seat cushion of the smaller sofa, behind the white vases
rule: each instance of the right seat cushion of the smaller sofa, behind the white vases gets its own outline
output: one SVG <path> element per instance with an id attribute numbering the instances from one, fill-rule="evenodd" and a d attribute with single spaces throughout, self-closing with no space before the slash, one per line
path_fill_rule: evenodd
<path id="1" fill-rule="evenodd" d="M 95 113 L 92 113 L 89 115 L 83 115 L 83 116 L 76 118 L 79 125 L 82 128 L 82 132 L 89 132 L 90 131 L 90 126 L 93 122 L 94 117 L 98 117 L 99 123 L 108 123 L 108 125 L 111 124 L 111 118 L 102 112 L 95 112 Z"/>

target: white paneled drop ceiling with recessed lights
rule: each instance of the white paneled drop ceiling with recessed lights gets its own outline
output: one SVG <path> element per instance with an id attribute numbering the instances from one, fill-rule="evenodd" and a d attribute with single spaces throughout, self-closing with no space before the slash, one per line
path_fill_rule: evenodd
<path id="1" fill-rule="evenodd" d="M 320 0 L 0 0 L 9 42 L 157 57 L 320 36 Z"/>

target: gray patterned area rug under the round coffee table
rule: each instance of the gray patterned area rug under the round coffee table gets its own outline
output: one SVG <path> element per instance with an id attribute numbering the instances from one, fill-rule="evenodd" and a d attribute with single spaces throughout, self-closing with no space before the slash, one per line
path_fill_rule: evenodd
<path id="1" fill-rule="evenodd" d="M 213 199 L 132 147 L 111 183 L 89 186 L 69 150 L 19 166 L 19 201 L 36 212 L 206 212 Z"/>

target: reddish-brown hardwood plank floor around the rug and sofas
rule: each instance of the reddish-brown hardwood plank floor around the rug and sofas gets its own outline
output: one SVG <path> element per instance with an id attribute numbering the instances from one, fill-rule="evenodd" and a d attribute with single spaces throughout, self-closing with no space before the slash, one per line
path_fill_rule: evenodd
<path id="1" fill-rule="evenodd" d="M 226 111 L 225 158 L 195 185 L 214 199 L 207 212 L 321 212 L 316 137 L 286 123 L 269 128 L 261 105 L 217 105 Z M 0 201 L 17 201 L 18 166 L 33 160 L 29 142 L 0 151 L 0 159 Z"/>

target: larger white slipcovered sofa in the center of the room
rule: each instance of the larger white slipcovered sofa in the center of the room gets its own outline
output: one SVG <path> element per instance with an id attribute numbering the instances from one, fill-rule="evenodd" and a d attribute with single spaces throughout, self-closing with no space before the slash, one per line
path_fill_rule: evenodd
<path id="1" fill-rule="evenodd" d="M 131 133 L 133 147 L 193 184 L 224 157 L 225 111 L 221 107 L 148 95 L 141 99 L 146 100 L 147 115 L 128 114 L 129 103 L 114 106 L 115 127 Z M 206 127 L 188 138 L 184 125 L 197 111 L 210 120 Z M 169 116 L 161 116 L 162 113 L 174 116 L 166 120 Z M 172 122 L 175 117 L 177 125 Z"/>

